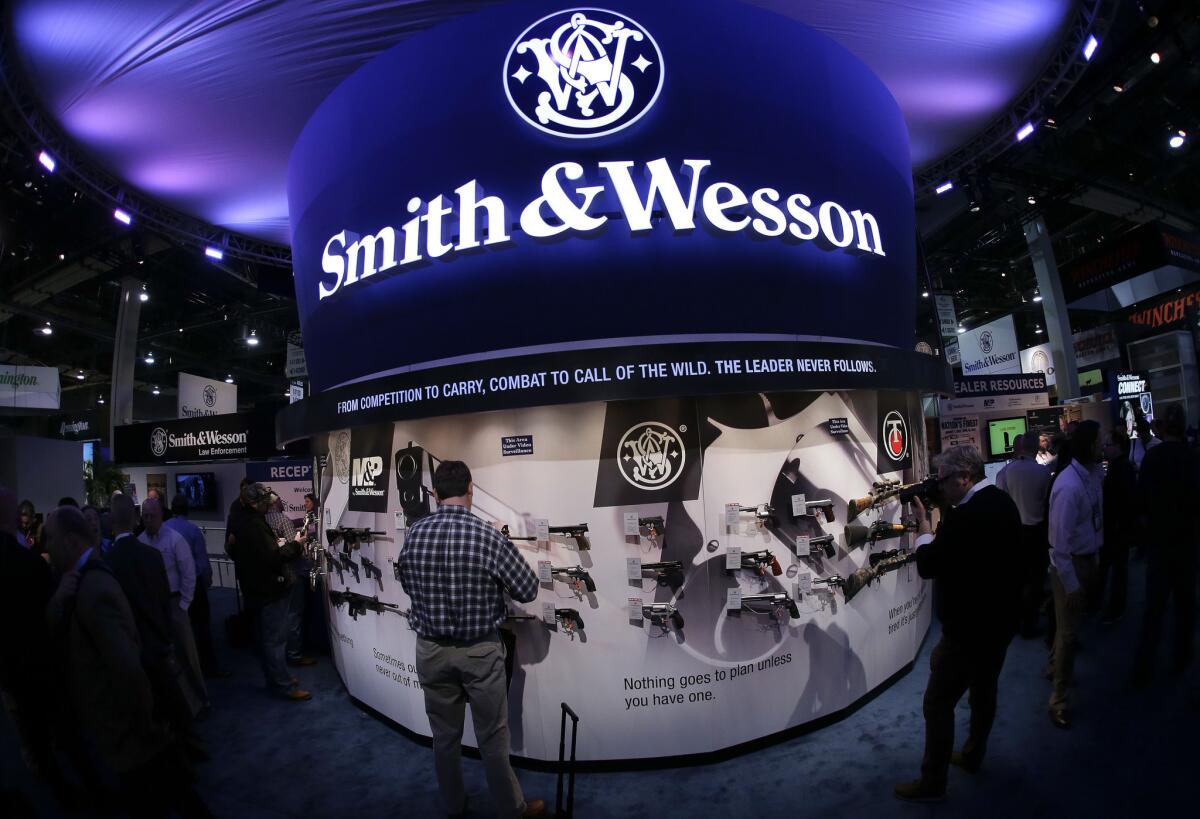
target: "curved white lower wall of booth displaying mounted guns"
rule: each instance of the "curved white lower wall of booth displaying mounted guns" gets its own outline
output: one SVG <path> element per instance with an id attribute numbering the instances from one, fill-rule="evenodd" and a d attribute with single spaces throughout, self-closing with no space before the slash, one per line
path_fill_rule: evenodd
<path id="1" fill-rule="evenodd" d="M 914 455 L 914 470 L 904 473 L 878 471 L 876 441 L 884 395 L 889 406 L 900 401 L 913 431 L 907 446 Z M 638 416 L 643 405 L 646 412 Z M 409 600 L 394 576 L 404 533 L 391 456 L 412 443 L 439 460 L 466 461 L 475 480 L 474 512 L 509 525 L 515 536 L 533 536 L 538 519 L 548 520 L 551 526 L 588 524 L 587 550 L 559 534 L 541 548 L 517 543 L 535 569 L 539 561 L 556 567 L 580 564 L 596 585 L 594 593 L 577 594 L 556 578 L 540 585 L 534 603 L 511 605 L 514 611 L 534 616 L 508 626 L 516 635 L 510 722 L 517 757 L 557 758 L 559 705 L 564 701 L 580 715 L 582 760 L 676 757 L 728 748 L 836 713 L 911 663 L 928 630 L 932 605 L 930 586 L 913 566 L 884 575 L 848 604 L 840 590 L 823 591 L 818 585 L 805 593 L 803 588 L 805 575 L 808 580 L 846 576 L 868 564 L 872 546 L 847 549 L 845 543 L 850 498 L 866 495 L 881 477 L 911 480 L 913 474 L 925 474 L 917 395 L 805 393 L 674 402 L 676 417 L 666 426 L 672 435 L 679 432 L 680 443 L 695 436 L 698 449 L 686 453 L 692 461 L 678 464 L 679 470 L 692 472 L 676 476 L 677 480 L 670 482 L 673 489 L 662 491 L 683 492 L 684 497 L 655 502 L 658 490 L 638 488 L 628 479 L 629 486 L 598 488 L 611 478 L 616 461 L 610 459 L 620 456 L 607 442 L 618 440 L 623 428 L 634 429 L 630 418 L 661 419 L 658 411 L 666 405 L 672 402 L 586 403 L 397 423 L 383 476 L 386 510 L 382 513 L 347 508 L 355 458 L 362 455 L 353 443 L 358 430 L 334 431 L 328 440 L 322 436 L 314 449 L 328 452 L 320 459 L 323 528 L 385 532 L 352 557 L 356 564 L 366 557 L 380 567 L 382 579 L 361 568 L 358 580 L 350 573 L 338 576 L 335 570 L 328 578 L 330 588 L 378 596 L 408 609 Z M 847 431 L 836 434 L 841 419 Z M 530 436 L 532 441 L 514 446 L 512 436 Z M 533 453 L 504 455 L 504 438 L 510 438 L 510 452 L 532 448 Z M 684 491 L 692 478 L 694 492 Z M 430 485 L 427 471 L 424 483 Z M 751 507 L 774 501 L 779 507 L 779 488 L 788 484 L 792 488 L 787 491 L 803 491 L 809 501 L 833 500 L 834 522 L 792 519 L 790 509 L 779 509 L 782 522 L 778 526 L 761 526 L 754 514 L 740 514 L 736 525 L 727 526 L 727 504 Z M 634 501 L 598 506 L 606 494 Z M 661 515 L 666 531 L 658 538 L 644 528 L 628 536 L 626 513 Z M 892 503 L 856 522 L 898 520 L 899 514 L 898 504 Z M 835 534 L 836 555 L 811 557 L 803 550 L 798 555 L 798 533 Z M 325 545 L 341 552 L 340 543 Z M 874 549 L 908 545 L 910 536 L 905 536 L 880 542 Z M 725 556 L 731 546 L 743 552 L 770 550 L 784 573 L 728 572 Z M 685 581 L 676 590 L 650 576 L 630 580 L 626 561 L 635 557 L 643 562 L 680 561 Z M 800 616 L 776 620 L 770 614 L 731 614 L 726 600 L 734 587 L 743 594 L 788 592 L 798 598 Z M 630 598 L 677 605 L 684 628 L 664 632 L 648 620 L 631 617 Z M 544 623 L 544 603 L 576 609 L 584 621 L 583 630 L 571 635 L 560 623 Z M 414 665 L 416 635 L 407 618 L 392 611 L 367 611 L 352 618 L 346 605 L 331 605 L 329 616 L 335 662 L 350 694 L 427 736 Z M 474 745 L 469 719 L 464 742 Z"/>

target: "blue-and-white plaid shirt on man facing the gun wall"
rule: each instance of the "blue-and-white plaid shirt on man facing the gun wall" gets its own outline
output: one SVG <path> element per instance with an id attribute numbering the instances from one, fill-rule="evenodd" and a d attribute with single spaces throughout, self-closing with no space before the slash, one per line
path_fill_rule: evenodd
<path id="1" fill-rule="evenodd" d="M 538 575 L 512 542 L 461 506 L 408 530 L 400 582 L 413 600 L 409 622 L 427 639 L 478 640 L 504 620 L 504 592 L 538 597 Z"/>

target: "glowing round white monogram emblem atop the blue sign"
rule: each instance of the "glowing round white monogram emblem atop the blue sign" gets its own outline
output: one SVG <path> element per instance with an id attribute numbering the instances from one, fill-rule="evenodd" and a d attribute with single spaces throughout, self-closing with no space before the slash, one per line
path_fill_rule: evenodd
<path id="1" fill-rule="evenodd" d="M 504 92 L 540 131 L 602 137 L 636 122 L 662 90 L 662 53 L 624 14 L 570 8 L 521 32 L 504 61 Z"/>

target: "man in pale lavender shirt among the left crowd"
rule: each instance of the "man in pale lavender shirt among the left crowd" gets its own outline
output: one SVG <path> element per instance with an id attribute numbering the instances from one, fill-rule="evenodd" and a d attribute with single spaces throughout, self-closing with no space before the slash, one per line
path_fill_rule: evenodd
<path id="1" fill-rule="evenodd" d="M 196 558 L 192 557 L 192 548 L 179 532 L 162 525 L 162 502 L 158 498 L 148 498 L 142 504 L 142 525 L 145 526 L 145 531 L 138 536 L 138 540 L 157 549 L 167 569 L 173 604 L 172 638 L 179 664 L 184 670 L 181 682 L 188 689 L 188 699 L 194 704 L 193 711 L 206 713 L 210 709 L 209 691 L 204 685 L 200 656 L 196 651 L 196 639 L 192 636 L 192 623 L 187 618 L 187 608 L 196 594 Z"/>

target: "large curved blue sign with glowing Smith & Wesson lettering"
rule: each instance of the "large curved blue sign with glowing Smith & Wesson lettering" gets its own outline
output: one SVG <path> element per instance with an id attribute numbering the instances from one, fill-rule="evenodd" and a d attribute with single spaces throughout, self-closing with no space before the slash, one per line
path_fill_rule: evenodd
<path id="1" fill-rule="evenodd" d="M 698 41 L 752 54 L 755 80 Z M 370 125 L 349 127 L 364 112 Z M 788 359 L 821 340 L 834 366 L 860 358 L 839 341 L 916 355 L 900 110 L 840 46 L 739 2 L 536 0 L 422 31 L 322 103 L 293 149 L 288 199 L 318 393 L 358 384 L 395 405 L 463 382 L 529 406 L 564 387 L 532 357 L 635 345 L 683 348 L 634 361 L 647 365 L 704 342 L 774 343 L 757 357 Z M 403 343 L 347 355 L 353 327 L 397 328 Z M 641 396 L 613 367 L 574 370 L 600 393 L 559 400 Z M 402 387 L 361 387 L 400 375 Z M 436 403 L 419 414 L 462 411 Z"/>

